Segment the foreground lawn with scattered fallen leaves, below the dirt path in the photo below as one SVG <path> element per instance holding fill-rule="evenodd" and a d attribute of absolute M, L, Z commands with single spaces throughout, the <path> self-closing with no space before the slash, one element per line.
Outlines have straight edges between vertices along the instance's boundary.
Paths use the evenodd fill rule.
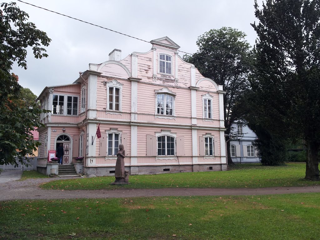
<path fill-rule="evenodd" d="M 319 193 L 7 201 L 0 239 L 315 240 L 319 206 Z"/>

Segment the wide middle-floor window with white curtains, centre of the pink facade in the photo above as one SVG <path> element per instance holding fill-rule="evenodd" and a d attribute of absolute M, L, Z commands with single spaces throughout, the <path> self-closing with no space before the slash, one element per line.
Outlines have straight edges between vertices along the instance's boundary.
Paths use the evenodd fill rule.
<path fill-rule="evenodd" d="M 158 116 L 171 116 L 169 119 L 174 119 L 175 106 L 174 100 L 176 93 L 170 91 L 167 87 L 160 90 L 155 90 L 156 93 L 156 112 Z"/>

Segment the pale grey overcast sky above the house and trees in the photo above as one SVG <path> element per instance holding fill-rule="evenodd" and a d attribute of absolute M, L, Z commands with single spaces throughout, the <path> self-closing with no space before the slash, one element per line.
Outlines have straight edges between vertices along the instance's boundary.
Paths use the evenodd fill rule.
<path fill-rule="evenodd" d="M 251 27 L 254 0 L 24 0 L 25 2 L 110 28 L 146 41 L 168 36 L 180 50 L 197 51 L 197 37 L 210 29 L 237 28 L 247 34 L 253 46 L 256 34 Z M 262 0 L 258 0 L 261 5 Z M 12 72 L 20 85 L 39 95 L 45 86 L 70 84 L 89 63 L 102 63 L 115 48 L 122 58 L 132 52 L 147 52 L 151 44 L 86 23 L 17 2 L 29 14 L 29 21 L 52 39 L 48 58 L 35 59 L 28 49 L 24 70 Z M 184 53 L 180 53 L 184 55 Z"/>

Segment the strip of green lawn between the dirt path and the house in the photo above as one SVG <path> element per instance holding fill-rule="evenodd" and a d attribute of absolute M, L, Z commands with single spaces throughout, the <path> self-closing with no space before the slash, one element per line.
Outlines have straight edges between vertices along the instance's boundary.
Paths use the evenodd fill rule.
<path fill-rule="evenodd" d="M 262 166 L 236 164 L 224 172 L 182 172 L 157 175 L 129 176 L 130 185 L 124 188 L 264 188 L 319 185 L 320 182 L 303 180 L 306 164 Z M 40 185 L 44 189 L 114 189 L 114 177 L 55 180 Z"/>

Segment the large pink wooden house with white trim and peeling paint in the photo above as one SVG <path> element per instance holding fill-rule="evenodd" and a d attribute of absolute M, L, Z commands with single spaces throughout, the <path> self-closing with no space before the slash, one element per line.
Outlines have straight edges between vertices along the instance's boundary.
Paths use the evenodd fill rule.
<path fill-rule="evenodd" d="M 63 164 L 83 156 L 76 169 L 85 174 L 112 175 L 119 144 L 130 174 L 227 169 L 222 86 L 182 60 L 170 38 L 150 43 L 124 59 L 115 49 L 74 83 L 44 88 L 38 99 L 51 113 L 38 129 L 40 171 L 60 143 Z"/>

